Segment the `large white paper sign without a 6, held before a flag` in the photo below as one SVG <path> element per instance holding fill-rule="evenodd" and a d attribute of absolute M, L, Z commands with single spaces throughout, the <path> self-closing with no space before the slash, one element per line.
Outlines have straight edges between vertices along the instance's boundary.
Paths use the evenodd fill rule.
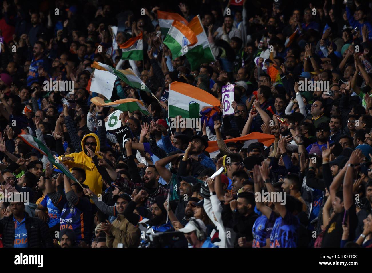
<path fill-rule="evenodd" d="M 112 89 L 114 88 L 116 75 L 111 74 L 105 70 L 94 70 L 94 78 L 90 85 L 90 91 L 102 94 L 110 99 L 112 96 Z"/>

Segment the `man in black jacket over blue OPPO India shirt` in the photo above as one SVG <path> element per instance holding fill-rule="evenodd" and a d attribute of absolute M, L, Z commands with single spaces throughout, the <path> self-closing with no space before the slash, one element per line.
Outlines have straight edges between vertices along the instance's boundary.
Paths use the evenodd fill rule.
<path fill-rule="evenodd" d="M 10 210 L 12 214 L 0 220 L 4 247 L 53 247 L 48 224 L 28 216 L 24 203 L 11 202 Z"/>

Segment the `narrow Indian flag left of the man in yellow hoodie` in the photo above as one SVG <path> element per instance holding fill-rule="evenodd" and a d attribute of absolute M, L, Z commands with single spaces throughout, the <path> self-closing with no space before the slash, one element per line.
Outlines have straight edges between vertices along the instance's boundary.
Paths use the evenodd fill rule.
<path fill-rule="evenodd" d="M 49 151 L 49 149 L 37 138 L 33 137 L 32 135 L 27 134 L 20 134 L 18 137 L 22 138 L 22 140 L 30 145 L 32 148 L 35 148 L 41 154 L 48 157 L 51 164 L 57 167 L 61 172 L 63 172 L 68 178 L 77 182 L 76 178 L 71 174 L 71 172 L 67 169 L 67 167 Z"/>

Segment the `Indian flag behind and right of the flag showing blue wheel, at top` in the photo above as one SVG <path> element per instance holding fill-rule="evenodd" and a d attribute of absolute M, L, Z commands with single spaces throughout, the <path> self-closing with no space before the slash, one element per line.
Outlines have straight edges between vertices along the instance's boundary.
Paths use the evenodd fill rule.
<path fill-rule="evenodd" d="M 191 65 L 191 70 L 196 70 L 199 69 L 202 63 L 209 63 L 216 59 L 212 53 L 211 45 L 209 45 L 208 37 L 203 29 L 199 15 L 195 16 L 187 26 L 195 33 L 198 39 L 195 45 L 189 46 L 185 54 Z"/>

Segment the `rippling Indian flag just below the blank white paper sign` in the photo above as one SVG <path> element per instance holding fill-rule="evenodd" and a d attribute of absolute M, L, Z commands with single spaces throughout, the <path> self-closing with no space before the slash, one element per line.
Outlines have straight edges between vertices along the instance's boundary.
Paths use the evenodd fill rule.
<path fill-rule="evenodd" d="M 140 110 L 143 114 L 149 115 L 149 112 L 143 103 L 143 101 L 139 99 L 118 99 L 117 101 L 104 101 L 102 98 L 94 97 L 90 99 L 92 103 L 99 106 L 111 106 L 115 109 L 121 111 L 129 111 L 134 112 L 136 110 Z"/>

